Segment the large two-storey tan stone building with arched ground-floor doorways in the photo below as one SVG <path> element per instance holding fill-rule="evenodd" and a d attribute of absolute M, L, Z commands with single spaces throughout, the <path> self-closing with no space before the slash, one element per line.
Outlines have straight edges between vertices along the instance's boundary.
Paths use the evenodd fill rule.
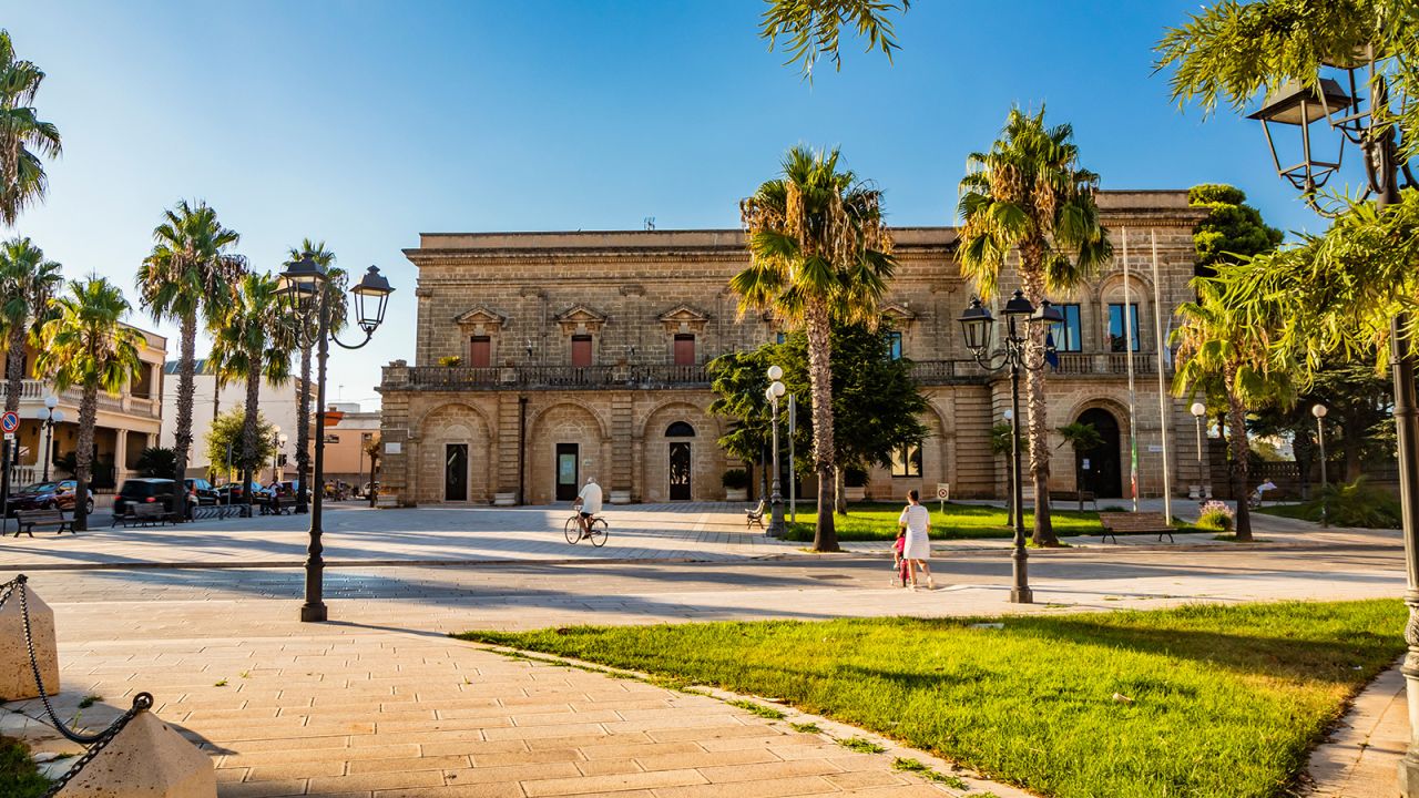
<path fill-rule="evenodd" d="M 1066 322 L 1054 329 L 1059 368 L 1047 383 L 1050 427 L 1093 422 L 1104 444 L 1078 461 L 1056 449 L 1051 487 L 1070 490 L 1081 474 L 1100 497 L 1128 490 L 1127 230 L 1139 483 L 1156 496 L 1155 318 L 1166 339 L 1176 305 L 1192 295 L 1192 229 L 1202 213 L 1181 190 L 1104 192 L 1098 202 L 1115 261 L 1076 295 L 1051 297 Z M 931 436 L 891 469 L 876 469 L 867 494 L 932 493 L 948 483 L 956 497 L 1005 496 L 990 427 L 1009 408 L 1009 379 L 978 366 L 961 342 L 956 318 L 973 287 L 955 260 L 956 230 L 893 236 L 898 271 L 884 311 L 900 331 L 901 356 L 917 364 Z M 380 386 L 382 481 L 403 504 L 566 501 L 586 477 L 614 503 L 725 497 L 721 477 L 739 463 L 715 443 L 728 422 L 707 413 L 705 364 L 782 332 L 771 315 L 738 312 L 728 281 L 748 264 L 742 233 L 433 233 L 404 254 L 419 268 L 417 349 L 413 364 L 386 366 Z M 1016 284 L 1002 275 L 1002 294 Z M 1003 298 L 993 302 L 999 311 Z M 1164 403 L 1174 487 L 1185 493 L 1205 481 L 1193 419 L 1185 402 Z"/>

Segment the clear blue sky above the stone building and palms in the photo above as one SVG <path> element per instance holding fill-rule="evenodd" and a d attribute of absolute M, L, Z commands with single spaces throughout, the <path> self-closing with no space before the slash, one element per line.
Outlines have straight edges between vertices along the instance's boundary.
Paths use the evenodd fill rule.
<path fill-rule="evenodd" d="M 1012 102 L 1071 122 L 1107 189 L 1227 182 L 1271 223 L 1318 227 L 1256 124 L 1182 114 L 1152 74 L 1196 7 L 921 0 L 895 64 L 850 43 L 807 85 L 758 38 L 759 0 L 13 4 L 0 26 L 48 72 L 38 105 L 65 148 L 16 230 L 131 297 L 180 197 L 211 203 L 255 268 L 302 236 L 377 264 L 389 322 L 335 352 L 329 390 L 373 402 L 379 366 L 413 359 L 400 250 L 420 231 L 734 227 L 797 142 L 841 145 L 894 224 L 949 224 L 966 153 Z"/>

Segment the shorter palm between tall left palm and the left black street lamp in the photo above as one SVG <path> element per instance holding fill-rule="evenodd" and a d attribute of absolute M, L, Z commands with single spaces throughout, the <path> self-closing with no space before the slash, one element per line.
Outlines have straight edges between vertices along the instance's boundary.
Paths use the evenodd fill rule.
<path fill-rule="evenodd" d="M 264 447 L 258 440 L 261 379 L 284 385 L 291 378 L 294 334 L 278 301 L 278 283 L 270 274 L 247 274 L 237 284 L 211 342 L 217 382 L 247 383 L 245 420 L 241 425 L 241 484 L 251 504 L 251 479 Z"/>

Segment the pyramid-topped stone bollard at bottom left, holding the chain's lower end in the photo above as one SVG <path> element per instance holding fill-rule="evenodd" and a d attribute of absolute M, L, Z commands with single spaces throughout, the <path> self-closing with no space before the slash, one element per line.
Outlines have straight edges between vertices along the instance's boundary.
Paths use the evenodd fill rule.
<path fill-rule="evenodd" d="M 55 798 L 216 798 L 211 757 L 150 711 L 128 721 Z"/>

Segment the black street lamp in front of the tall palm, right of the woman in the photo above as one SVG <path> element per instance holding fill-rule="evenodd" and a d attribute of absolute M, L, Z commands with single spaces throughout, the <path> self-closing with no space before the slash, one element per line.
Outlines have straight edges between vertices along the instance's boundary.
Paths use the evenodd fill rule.
<path fill-rule="evenodd" d="M 1022 319 L 1025 329 L 1020 329 Z M 1015 524 L 1015 554 L 1012 554 L 1015 584 L 1010 586 L 1010 601 L 1013 603 L 1032 603 L 1034 594 L 1030 591 L 1029 569 L 1026 568 L 1029 555 L 1025 552 L 1025 487 L 1020 484 L 1020 369 L 1039 371 L 1044 368 L 1043 358 L 1036 364 L 1029 362 L 1026 344 L 1040 329 L 1039 325 L 1047 328 L 1050 324 L 1059 324 L 1064 321 L 1064 314 L 1049 302 L 1040 302 L 1036 310 L 1025 298 L 1023 291 L 1016 291 L 1005 302 L 1005 338 L 1000 341 L 1002 349 L 993 354 L 988 354 L 988 348 L 995 317 L 981 304 L 979 297 L 971 300 L 971 307 L 961 314 L 959 321 L 966 349 L 971 351 L 971 356 L 981 368 L 1010 371 L 1010 515 Z M 996 362 L 995 358 L 1000 358 L 1000 361 Z"/>

